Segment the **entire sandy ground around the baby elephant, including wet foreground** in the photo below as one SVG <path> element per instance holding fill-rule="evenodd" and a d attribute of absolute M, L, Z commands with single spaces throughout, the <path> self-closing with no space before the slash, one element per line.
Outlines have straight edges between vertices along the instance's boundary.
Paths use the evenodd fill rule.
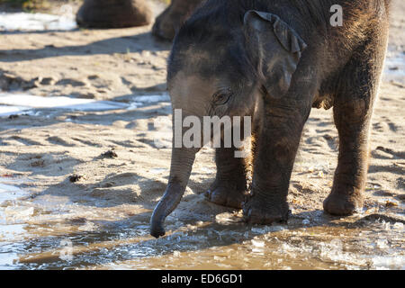
<path fill-rule="evenodd" d="M 215 165 L 203 148 L 159 239 L 148 235 L 148 221 L 170 165 L 170 44 L 154 40 L 150 27 L 1 32 L 2 93 L 45 99 L 0 116 L 0 268 L 405 269 L 405 21 L 404 4 L 395 2 L 364 211 L 347 218 L 322 211 L 338 133 L 331 110 L 314 109 L 287 224 L 248 227 L 240 211 L 206 202 Z M 43 108 L 55 96 L 121 108 Z"/>

